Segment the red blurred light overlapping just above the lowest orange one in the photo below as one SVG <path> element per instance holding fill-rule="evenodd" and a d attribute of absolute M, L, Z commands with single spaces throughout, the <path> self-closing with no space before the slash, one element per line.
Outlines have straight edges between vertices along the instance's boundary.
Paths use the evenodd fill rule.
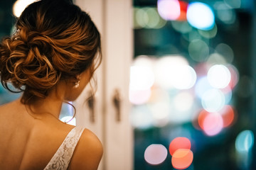
<path fill-rule="evenodd" d="M 169 152 L 173 156 L 177 149 L 191 149 L 191 142 L 186 137 L 176 137 L 169 145 Z"/>

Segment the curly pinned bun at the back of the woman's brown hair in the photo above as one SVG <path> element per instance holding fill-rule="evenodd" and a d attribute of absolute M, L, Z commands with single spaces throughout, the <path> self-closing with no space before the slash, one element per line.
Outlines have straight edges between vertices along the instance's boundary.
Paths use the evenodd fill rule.
<path fill-rule="evenodd" d="M 38 91 L 48 91 L 60 79 L 48 59 L 52 53 L 48 38 L 38 33 L 27 35 L 21 30 L 13 38 L 6 38 L 1 44 L 1 81 L 10 81 L 17 89 L 26 86 L 43 97 Z"/>

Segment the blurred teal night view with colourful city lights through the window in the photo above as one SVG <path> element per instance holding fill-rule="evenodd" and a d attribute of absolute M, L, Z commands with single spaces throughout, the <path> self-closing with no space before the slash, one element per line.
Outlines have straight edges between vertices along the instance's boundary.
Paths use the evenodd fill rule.
<path fill-rule="evenodd" d="M 0 1 L 0 38 L 15 2 Z M 134 170 L 256 169 L 255 3 L 133 0 Z M 17 96 L 0 86 L 0 104 Z"/>

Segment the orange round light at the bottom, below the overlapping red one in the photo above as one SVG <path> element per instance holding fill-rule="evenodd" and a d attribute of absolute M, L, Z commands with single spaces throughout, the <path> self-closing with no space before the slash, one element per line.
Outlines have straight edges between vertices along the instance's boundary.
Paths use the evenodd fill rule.
<path fill-rule="evenodd" d="M 177 149 L 171 158 L 171 164 L 175 169 L 186 169 L 193 162 L 193 152 L 191 149 Z"/>

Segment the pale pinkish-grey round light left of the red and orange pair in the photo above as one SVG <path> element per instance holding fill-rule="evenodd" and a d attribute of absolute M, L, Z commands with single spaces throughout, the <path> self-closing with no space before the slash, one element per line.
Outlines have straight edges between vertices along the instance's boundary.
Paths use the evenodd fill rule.
<path fill-rule="evenodd" d="M 152 144 L 146 148 L 144 152 L 144 159 L 147 163 L 158 165 L 164 162 L 167 157 L 167 149 L 164 145 Z"/>

